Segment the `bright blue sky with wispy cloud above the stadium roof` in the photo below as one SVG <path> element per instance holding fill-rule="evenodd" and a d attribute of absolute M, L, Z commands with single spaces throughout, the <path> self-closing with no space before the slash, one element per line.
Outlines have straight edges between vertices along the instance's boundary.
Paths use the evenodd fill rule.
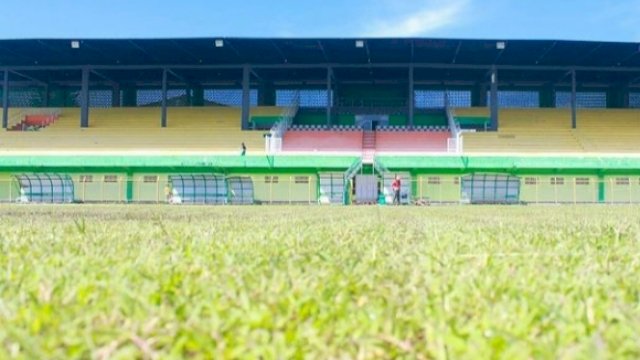
<path fill-rule="evenodd" d="M 640 0 L 2 0 L 0 38 L 446 37 L 640 42 Z"/>

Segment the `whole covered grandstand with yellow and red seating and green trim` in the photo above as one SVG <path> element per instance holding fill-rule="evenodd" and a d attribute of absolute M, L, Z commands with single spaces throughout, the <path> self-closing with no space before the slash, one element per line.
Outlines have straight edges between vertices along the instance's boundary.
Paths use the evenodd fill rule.
<path fill-rule="evenodd" d="M 2 40 L 0 74 L 5 202 L 640 202 L 638 43 Z"/>

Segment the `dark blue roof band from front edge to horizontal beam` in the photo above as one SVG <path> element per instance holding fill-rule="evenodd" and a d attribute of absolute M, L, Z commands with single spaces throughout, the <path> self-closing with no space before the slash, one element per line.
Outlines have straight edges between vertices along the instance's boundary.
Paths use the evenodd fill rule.
<path fill-rule="evenodd" d="M 216 47 L 215 40 L 223 41 Z M 450 64 L 640 67 L 640 44 L 455 39 L 0 40 L 0 66 Z M 72 48 L 71 42 L 80 47 Z M 505 48 L 497 43 L 504 42 Z"/>

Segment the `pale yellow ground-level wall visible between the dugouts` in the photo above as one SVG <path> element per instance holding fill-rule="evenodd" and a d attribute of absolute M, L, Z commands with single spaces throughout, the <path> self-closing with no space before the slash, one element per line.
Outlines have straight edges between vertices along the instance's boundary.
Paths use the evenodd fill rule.
<path fill-rule="evenodd" d="M 315 205 L 320 203 L 323 191 L 317 175 L 243 175 L 249 177 L 250 186 L 243 196 L 251 196 L 250 203 L 264 205 Z M 190 203 L 192 194 L 211 194 L 220 189 L 195 189 L 181 194 L 174 192 L 167 175 L 134 176 L 72 176 L 73 202 L 75 203 L 150 203 L 171 204 L 178 196 L 182 203 Z M 356 187 L 345 183 L 344 191 L 350 191 L 348 198 L 355 203 Z M 390 196 L 382 186 L 379 195 Z M 420 175 L 403 182 L 408 189 L 409 203 L 415 205 L 464 204 L 462 181 L 459 177 Z M 386 186 L 386 185 L 385 185 Z M 21 188 L 13 179 L 0 180 L 0 202 L 38 203 L 42 199 L 55 196 L 31 196 L 39 194 L 39 189 Z M 226 190 L 228 201 L 236 194 L 229 186 Z M 340 191 L 340 190 L 331 190 Z M 249 194 L 249 195 L 247 195 Z M 369 194 L 370 196 L 370 194 Z M 39 200 L 40 199 L 40 200 Z M 521 177 L 518 202 L 521 204 L 640 204 L 640 177 L 612 177 L 604 180 L 580 176 Z M 191 202 L 193 203 L 193 202 Z M 196 204 L 202 203 L 195 201 Z M 390 203 L 387 199 L 387 203 Z"/>

